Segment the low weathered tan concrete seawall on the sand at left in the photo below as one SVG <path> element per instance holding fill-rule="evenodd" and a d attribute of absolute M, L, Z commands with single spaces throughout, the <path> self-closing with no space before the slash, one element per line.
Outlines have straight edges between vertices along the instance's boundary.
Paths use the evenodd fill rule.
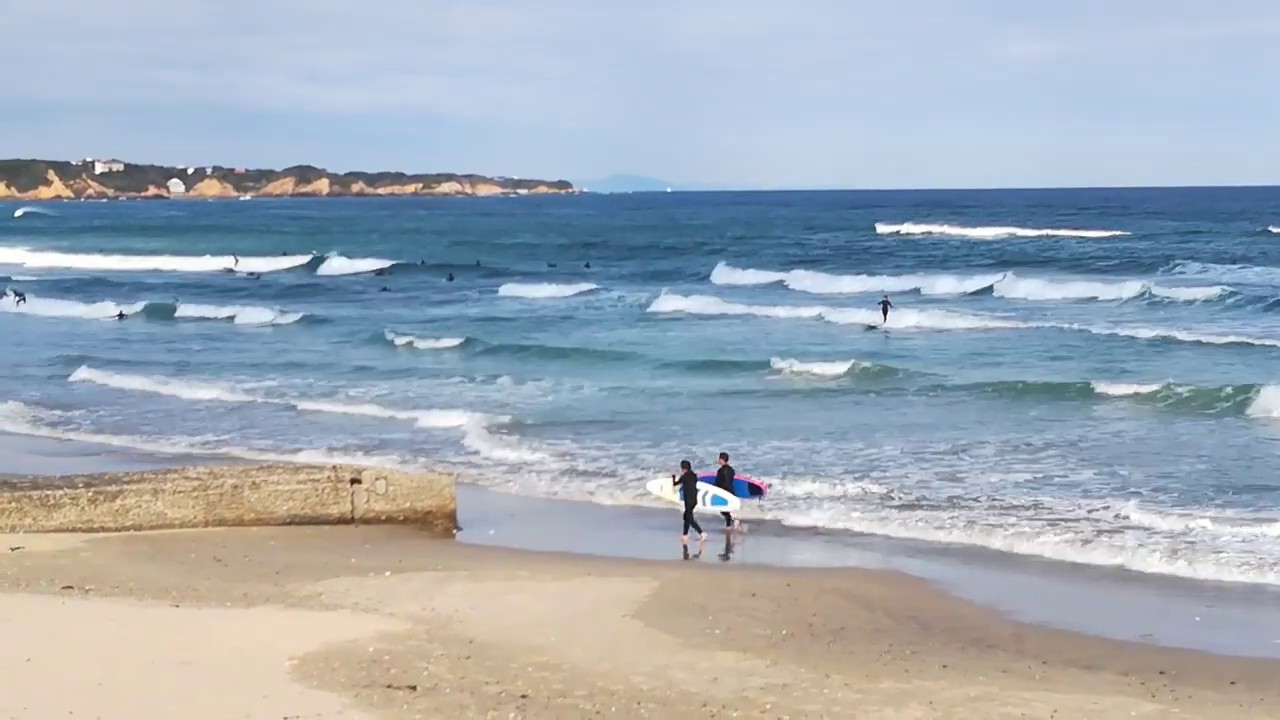
<path fill-rule="evenodd" d="M 0 480 L 0 533 L 349 524 L 452 536 L 453 477 L 279 464 Z"/>

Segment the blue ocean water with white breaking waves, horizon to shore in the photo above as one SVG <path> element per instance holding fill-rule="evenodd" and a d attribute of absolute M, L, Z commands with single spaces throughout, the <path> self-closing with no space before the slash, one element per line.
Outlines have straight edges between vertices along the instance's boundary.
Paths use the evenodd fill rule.
<path fill-rule="evenodd" d="M 1280 584 L 1276 188 L 19 209 L 0 430 Z"/>

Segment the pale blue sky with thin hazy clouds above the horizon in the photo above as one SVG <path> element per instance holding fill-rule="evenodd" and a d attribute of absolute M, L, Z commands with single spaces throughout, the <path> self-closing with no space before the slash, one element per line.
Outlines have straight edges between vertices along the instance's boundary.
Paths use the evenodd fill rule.
<path fill-rule="evenodd" d="M 1280 184 L 1276 0 L 0 0 L 0 156 Z"/>

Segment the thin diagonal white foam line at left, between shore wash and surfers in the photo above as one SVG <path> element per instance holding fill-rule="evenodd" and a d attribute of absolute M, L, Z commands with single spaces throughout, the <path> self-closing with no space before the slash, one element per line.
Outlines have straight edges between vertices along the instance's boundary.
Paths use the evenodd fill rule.
<path fill-rule="evenodd" d="M 366 418 L 387 418 L 394 420 L 408 420 L 424 429 L 462 428 L 468 424 L 485 421 L 506 421 L 507 418 L 489 418 L 468 410 L 398 410 L 383 407 L 370 402 L 337 402 L 324 400 L 296 400 L 253 396 L 237 388 L 207 383 L 192 379 L 174 379 L 163 375 L 133 375 L 128 373 L 113 373 L 99 370 L 88 365 L 77 369 L 69 378 L 70 382 L 88 382 L 116 389 L 134 392 L 150 392 L 154 395 L 166 395 L 182 400 L 205 402 L 260 402 L 266 405 L 284 405 L 307 413 L 333 413 L 340 415 L 364 415 Z"/>

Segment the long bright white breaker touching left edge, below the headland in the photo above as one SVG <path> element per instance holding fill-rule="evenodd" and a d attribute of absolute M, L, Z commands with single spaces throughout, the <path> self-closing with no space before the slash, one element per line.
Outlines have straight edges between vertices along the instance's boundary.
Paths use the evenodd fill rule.
<path fill-rule="evenodd" d="M 238 259 L 232 255 L 100 255 L 0 247 L 0 265 L 122 272 L 216 273 L 234 269 L 242 273 L 273 273 L 306 265 L 311 258 L 312 255 Z"/>

